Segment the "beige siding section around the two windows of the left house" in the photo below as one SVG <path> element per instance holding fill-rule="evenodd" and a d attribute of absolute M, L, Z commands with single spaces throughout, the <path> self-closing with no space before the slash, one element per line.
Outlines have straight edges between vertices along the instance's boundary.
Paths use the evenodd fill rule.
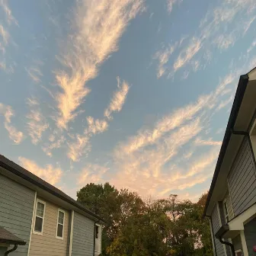
<path fill-rule="evenodd" d="M 34 234 L 34 232 L 32 232 L 30 256 L 66 256 L 68 253 L 67 251 L 69 251 L 69 212 L 64 210 L 65 219 L 63 239 L 56 238 L 58 210 L 60 207 L 47 202 L 46 200 L 43 201 L 46 202 L 43 235 Z"/>

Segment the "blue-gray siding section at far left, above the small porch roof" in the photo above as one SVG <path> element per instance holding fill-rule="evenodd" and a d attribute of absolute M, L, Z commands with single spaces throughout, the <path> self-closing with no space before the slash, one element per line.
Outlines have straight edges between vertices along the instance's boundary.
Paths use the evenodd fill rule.
<path fill-rule="evenodd" d="M 27 242 L 11 253 L 27 255 L 35 192 L 0 174 L 0 226 Z"/>

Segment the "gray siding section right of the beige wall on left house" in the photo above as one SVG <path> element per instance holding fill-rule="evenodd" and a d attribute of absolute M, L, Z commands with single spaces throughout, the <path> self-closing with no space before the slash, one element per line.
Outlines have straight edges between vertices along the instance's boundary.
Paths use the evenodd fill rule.
<path fill-rule="evenodd" d="M 74 213 L 72 256 L 91 256 L 94 254 L 94 222 Z"/>

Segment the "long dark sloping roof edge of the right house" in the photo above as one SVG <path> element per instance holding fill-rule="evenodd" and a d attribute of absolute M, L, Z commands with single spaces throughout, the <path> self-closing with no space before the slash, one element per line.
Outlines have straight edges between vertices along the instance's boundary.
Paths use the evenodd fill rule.
<path fill-rule="evenodd" d="M 224 135 L 224 139 L 222 141 L 221 149 L 219 151 L 219 158 L 217 160 L 216 168 L 215 168 L 215 171 L 214 171 L 214 174 L 213 174 L 213 181 L 210 185 L 209 194 L 208 194 L 208 197 L 207 197 L 207 200 L 206 200 L 206 206 L 205 206 L 204 211 L 203 211 L 203 217 L 206 216 L 206 210 L 209 206 L 210 199 L 213 195 L 213 189 L 216 185 L 216 181 L 217 181 L 217 178 L 218 178 L 218 175 L 219 175 L 219 170 L 222 166 L 222 162 L 223 162 L 224 156 L 226 154 L 226 149 L 229 145 L 229 140 L 230 140 L 230 137 L 232 135 L 232 130 L 235 126 L 235 121 L 236 121 L 236 118 L 238 116 L 238 111 L 239 111 L 239 109 L 241 107 L 241 104 L 242 104 L 242 99 L 244 98 L 245 90 L 246 90 L 246 87 L 248 85 L 248 80 L 249 80 L 248 74 L 240 76 L 240 79 L 239 79 L 239 82 L 238 82 L 238 88 L 237 88 L 236 93 L 235 93 L 235 99 L 234 99 L 233 105 L 232 105 L 232 110 L 231 110 L 231 113 L 230 113 L 230 116 L 229 116 L 229 122 L 226 126 L 226 132 L 225 132 L 225 135 Z"/>

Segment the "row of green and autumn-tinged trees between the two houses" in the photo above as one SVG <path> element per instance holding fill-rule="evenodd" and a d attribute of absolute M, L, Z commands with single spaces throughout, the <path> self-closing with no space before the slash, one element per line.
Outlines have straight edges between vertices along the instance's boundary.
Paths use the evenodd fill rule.
<path fill-rule="evenodd" d="M 136 192 L 91 183 L 78 190 L 77 197 L 106 222 L 102 255 L 213 255 L 209 222 L 202 219 L 207 194 L 197 203 L 174 194 L 142 200 Z"/>

